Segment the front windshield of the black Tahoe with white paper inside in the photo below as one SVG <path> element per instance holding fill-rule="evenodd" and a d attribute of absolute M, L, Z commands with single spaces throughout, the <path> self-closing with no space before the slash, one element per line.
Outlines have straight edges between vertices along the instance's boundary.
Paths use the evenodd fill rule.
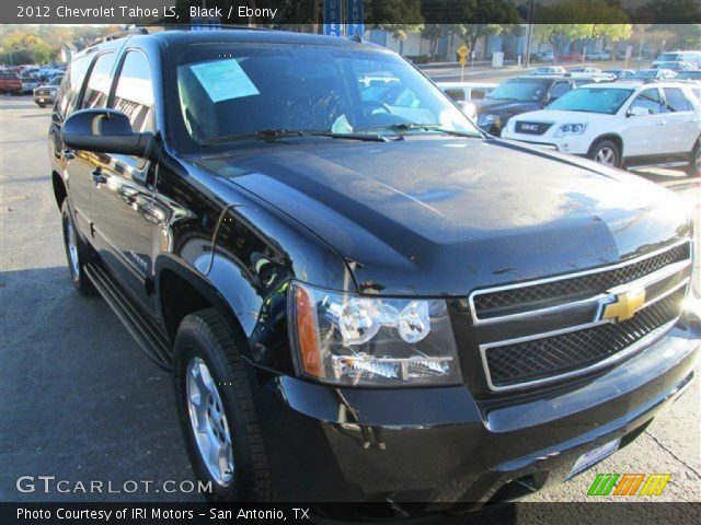
<path fill-rule="evenodd" d="M 449 98 L 397 55 L 332 46 L 176 48 L 180 114 L 199 144 L 260 132 L 479 135 Z M 430 128 L 430 129 L 429 129 Z"/>

